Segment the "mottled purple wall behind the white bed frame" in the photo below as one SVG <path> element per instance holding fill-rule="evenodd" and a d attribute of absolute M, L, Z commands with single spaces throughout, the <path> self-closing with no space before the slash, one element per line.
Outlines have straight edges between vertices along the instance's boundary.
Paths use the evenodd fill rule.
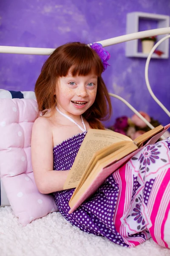
<path fill-rule="evenodd" d="M 0 45 L 56 48 L 69 41 L 91 43 L 126 33 L 128 12 L 170 15 L 168 0 L 5 0 L 0 1 Z M 107 47 L 111 53 L 103 79 L 109 92 L 125 98 L 164 125 L 170 118 L 154 102 L 144 81 L 145 58 L 126 58 L 125 43 Z M 0 88 L 34 90 L 47 56 L 0 54 Z M 153 92 L 170 109 L 170 60 L 152 59 Z M 112 99 L 113 117 L 133 114 Z M 108 123 L 107 123 L 108 124 Z"/>

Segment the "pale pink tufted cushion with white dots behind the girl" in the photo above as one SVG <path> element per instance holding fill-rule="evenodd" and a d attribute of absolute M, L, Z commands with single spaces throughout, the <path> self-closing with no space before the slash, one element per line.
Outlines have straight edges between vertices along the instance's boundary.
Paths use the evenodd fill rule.
<path fill-rule="evenodd" d="M 52 195 L 41 194 L 31 166 L 31 130 L 37 118 L 34 99 L 0 99 L 0 175 L 8 200 L 26 226 L 57 211 Z"/>

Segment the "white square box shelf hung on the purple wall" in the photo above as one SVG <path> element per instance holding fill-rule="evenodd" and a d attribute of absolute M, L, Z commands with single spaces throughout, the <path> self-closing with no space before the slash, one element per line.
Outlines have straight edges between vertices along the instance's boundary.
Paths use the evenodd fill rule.
<path fill-rule="evenodd" d="M 130 12 L 127 14 L 126 34 L 139 32 L 139 20 L 155 20 L 157 22 L 157 28 L 164 28 L 170 26 L 170 16 L 159 15 L 145 12 Z M 163 38 L 165 35 L 158 35 L 157 41 Z M 153 53 L 152 58 L 169 58 L 169 38 L 163 41 L 158 50 L 164 52 L 161 56 Z M 138 51 L 138 39 L 126 42 L 126 57 L 141 57 L 147 58 L 148 54 Z"/>

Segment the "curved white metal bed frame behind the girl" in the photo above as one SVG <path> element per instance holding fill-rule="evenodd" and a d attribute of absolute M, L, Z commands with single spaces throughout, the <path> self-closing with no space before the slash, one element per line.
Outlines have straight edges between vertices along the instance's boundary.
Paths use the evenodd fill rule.
<path fill-rule="evenodd" d="M 107 47 L 113 44 L 119 44 L 125 41 L 130 41 L 134 39 L 140 39 L 140 38 L 145 38 L 149 36 L 156 36 L 156 35 L 165 35 L 165 34 L 170 34 L 170 27 L 166 28 L 160 28 L 160 29 L 151 29 L 151 30 L 146 30 L 142 32 L 136 32 L 128 35 L 122 35 L 118 36 L 115 38 L 110 38 L 102 41 L 98 41 L 97 43 L 102 44 L 103 47 Z M 170 38 L 170 35 L 166 35 L 165 37 L 161 38 L 154 47 L 151 49 L 147 61 L 145 64 L 145 81 L 147 85 L 147 89 L 150 93 L 150 95 L 153 97 L 153 99 L 157 102 L 157 104 L 164 110 L 165 113 L 170 117 L 170 111 L 167 110 L 167 108 L 164 107 L 164 105 L 159 101 L 159 99 L 156 98 L 154 95 L 153 91 L 151 90 L 149 79 L 148 79 L 148 67 L 150 63 L 150 58 L 155 51 L 155 49 L 167 38 Z M 50 55 L 55 49 L 51 48 L 36 48 L 36 47 L 12 47 L 12 46 L 0 46 L 0 53 L 15 53 L 15 54 L 31 54 L 31 55 Z M 148 125 L 151 129 L 153 129 L 153 125 L 150 124 L 138 111 L 136 111 L 135 108 L 133 108 L 132 105 L 130 105 L 125 99 L 123 99 L 120 96 L 117 96 L 116 94 L 109 93 L 110 96 L 121 100 L 124 102 L 128 108 L 130 108 L 134 113 L 136 113 L 137 116 L 139 116 L 140 119 L 142 119 L 146 125 Z M 161 139 L 164 139 L 163 136 L 161 136 Z"/>

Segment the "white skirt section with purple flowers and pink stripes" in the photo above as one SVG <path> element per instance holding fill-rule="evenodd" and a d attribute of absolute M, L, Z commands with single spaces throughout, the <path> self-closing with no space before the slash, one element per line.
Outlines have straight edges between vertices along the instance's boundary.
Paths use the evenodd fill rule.
<path fill-rule="evenodd" d="M 170 248 L 170 138 L 144 147 L 113 177 L 120 188 L 113 222 L 125 243 L 152 237 Z"/>

